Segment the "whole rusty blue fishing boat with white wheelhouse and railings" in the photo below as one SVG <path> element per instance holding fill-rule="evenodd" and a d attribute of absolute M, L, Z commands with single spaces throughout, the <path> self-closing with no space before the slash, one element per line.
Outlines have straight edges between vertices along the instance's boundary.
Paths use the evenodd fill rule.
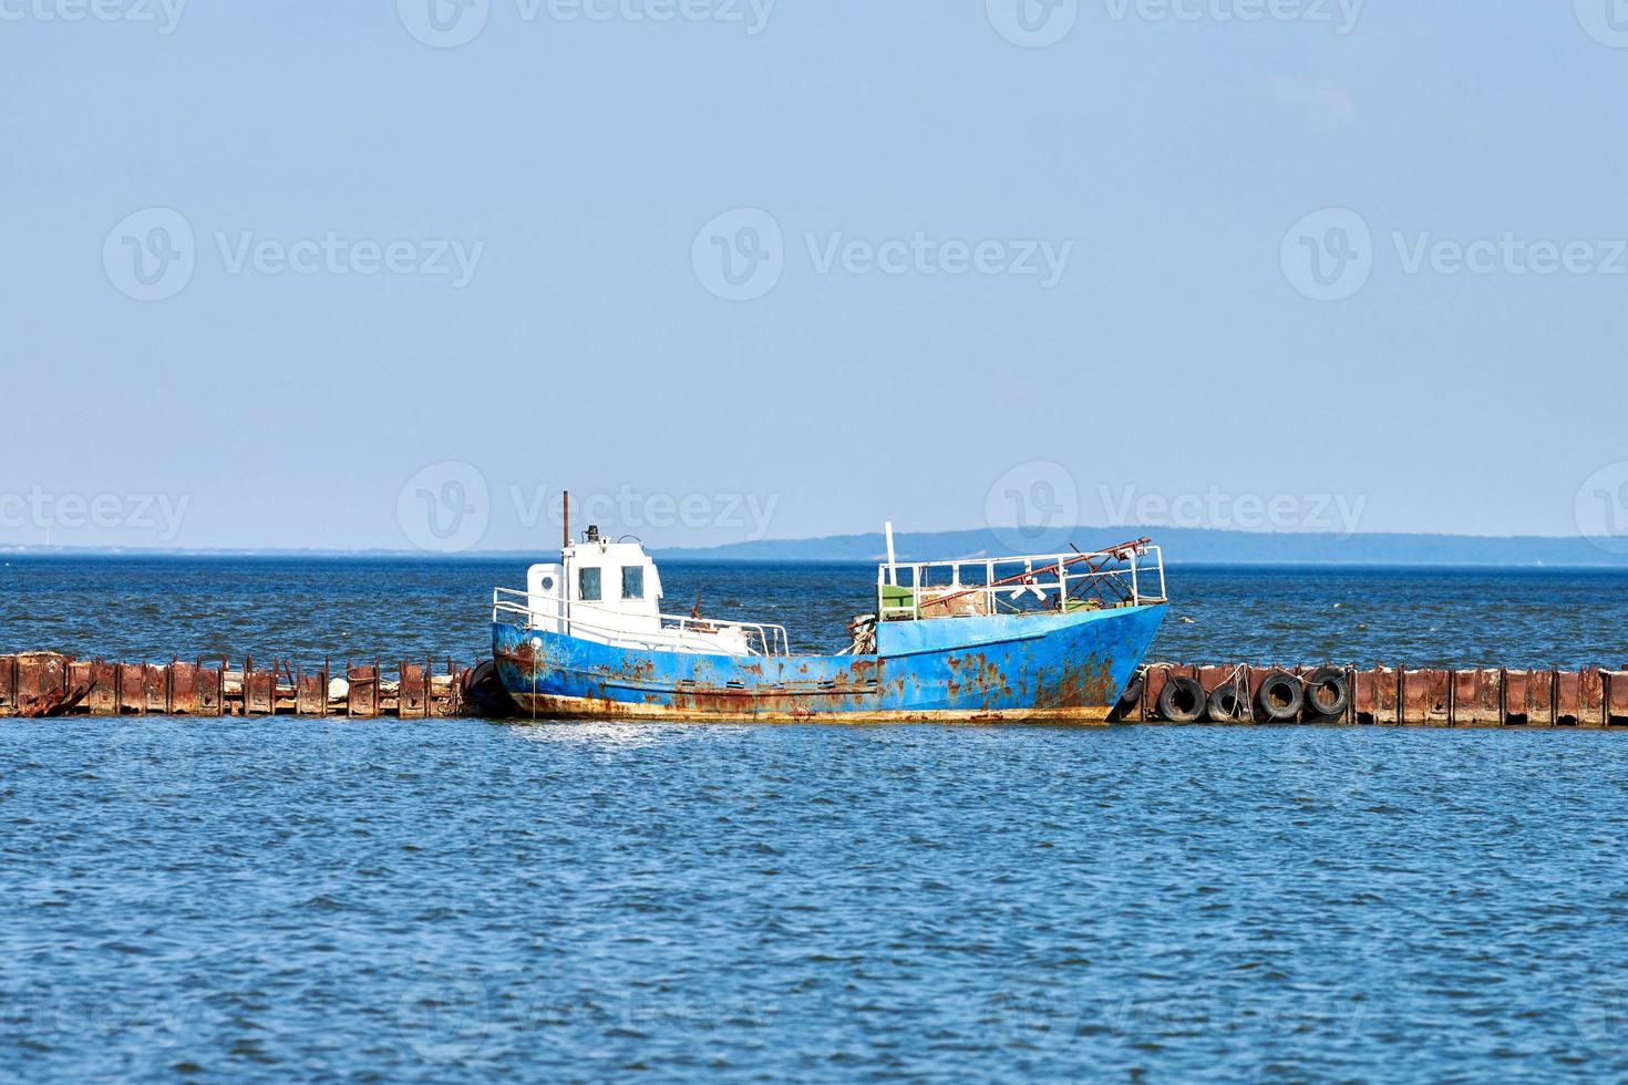
<path fill-rule="evenodd" d="M 492 654 L 524 716 L 751 722 L 1104 722 L 1167 610 L 1148 538 L 1094 553 L 902 563 L 837 654 L 785 626 L 661 612 L 641 542 L 589 527 L 524 590 L 495 589 Z"/>

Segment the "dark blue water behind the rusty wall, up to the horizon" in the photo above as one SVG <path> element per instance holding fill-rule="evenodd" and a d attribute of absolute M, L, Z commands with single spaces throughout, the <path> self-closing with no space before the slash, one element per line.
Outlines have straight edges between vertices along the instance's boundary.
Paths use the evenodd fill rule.
<path fill-rule="evenodd" d="M 785 625 L 799 652 L 847 646 L 874 564 L 663 561 L 666 610 Z M 1174 566 L 1154 659 L 1410 667 L 1628 664 L 1628 571 Z M 0 652 L 125 662 L 228 656 L 399 660 L 490 654 L 514 558 L 0 555 Z"/>

